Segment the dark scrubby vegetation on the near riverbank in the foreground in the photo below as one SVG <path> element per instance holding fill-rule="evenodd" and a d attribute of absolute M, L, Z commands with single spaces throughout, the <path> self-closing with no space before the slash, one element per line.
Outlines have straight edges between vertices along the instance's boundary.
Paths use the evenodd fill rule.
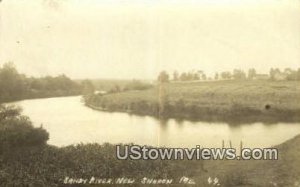
<path fill-rule="evenodd" d="M 114 145 L 79 144 L 58 148 L 47 145 L 48 137 L 43 128 L 34 128 L 27 117 L 20 115 L 20 109 L 1 106 L 1 186 L 62 186 L 65 177 L 93 176 L 177 181 L 185 176 L 195 180 L 197 185 L 193 186 L 201 187 L 211 186 L 209 177 L 217 177 L 219 186 L 224 187 L 297 187 L 300 184 L 300 136 L 277 146 L 280 155 L 275 161 L 117 160 Z"/>

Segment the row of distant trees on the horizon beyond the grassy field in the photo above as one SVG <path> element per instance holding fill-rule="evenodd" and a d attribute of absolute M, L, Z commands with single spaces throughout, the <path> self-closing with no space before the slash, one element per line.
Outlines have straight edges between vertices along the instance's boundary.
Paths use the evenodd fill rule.
<path fill-rule="evenodd" d="M 234 69 L 232 72 L 224 71 L 215 73 L 214 77 L 208 77 L 204 71 L 189 71 L 179 73 L 174 71 L 170 75 L 166 71 L 160 72 L 158 80 L 160 82 L 167 81 L 198 81 L 198 80 L 300 80 L 300 68 L 293 70 L 286 68 L 280 70 L 278 68 L 271 68 L 269 74 L 259 74 L 254 68 L 249 69 L 246 73 L 241 69 Z"/>

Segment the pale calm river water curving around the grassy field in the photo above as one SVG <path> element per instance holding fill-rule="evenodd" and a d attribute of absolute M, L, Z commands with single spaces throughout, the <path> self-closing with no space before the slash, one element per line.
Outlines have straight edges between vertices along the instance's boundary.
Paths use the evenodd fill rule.
<path fill-rule="evenodd" d="M 226 123 L 161 122 L 149 116 L 109 113 L 87 108 L 81 97 L 33 99 L 15 102 L 34 126 L 50 133 L 49 144 L 136 143 L 168 147 L 220 147 L 222 140 L 234 147 L 269 147 L 300 134 L 300 124 L 263 123 L 230 126 Z"/>

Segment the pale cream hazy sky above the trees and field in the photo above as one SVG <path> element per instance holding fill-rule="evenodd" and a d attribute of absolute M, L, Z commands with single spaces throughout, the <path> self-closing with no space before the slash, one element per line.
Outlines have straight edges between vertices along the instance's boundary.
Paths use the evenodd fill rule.
<path fill-rule="evenodd" d="M 300 67 L 300 0 L 2 0 L 0 65 L 28 76 Z"/>

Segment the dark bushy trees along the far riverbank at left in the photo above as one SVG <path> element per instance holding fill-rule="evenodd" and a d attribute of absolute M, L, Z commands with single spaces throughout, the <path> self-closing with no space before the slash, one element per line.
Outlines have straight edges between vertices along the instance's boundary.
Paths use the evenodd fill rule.
<path fill-rule="evenodd" d="M 13 63 L 0 67 L 0 102 L 79 95 L 87 90 L 93 91 L 93 85 L 89 81 L 77 83 L 65 75 L 27 77 L 20 74 Z"/>

